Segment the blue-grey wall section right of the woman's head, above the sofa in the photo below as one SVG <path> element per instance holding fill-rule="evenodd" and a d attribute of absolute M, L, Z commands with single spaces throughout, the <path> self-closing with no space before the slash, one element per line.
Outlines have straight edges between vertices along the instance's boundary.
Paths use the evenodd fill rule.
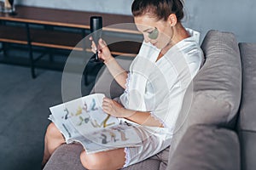
<path fill-rule="evenodd" d="M 256 42 L 255 0 L 185 0 L 184 25 L 201 31 L 231 31 L 239 42 Z"/>

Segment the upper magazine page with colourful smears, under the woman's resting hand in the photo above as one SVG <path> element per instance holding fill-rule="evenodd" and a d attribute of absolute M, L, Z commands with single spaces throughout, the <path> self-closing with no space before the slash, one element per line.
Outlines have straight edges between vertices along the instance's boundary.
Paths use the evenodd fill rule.
<path fill-rule="evenodd" d="M 90 94 L 50 107 L 50 119 L 66 139 L 95 132 L 119 124 L 119 119 L 102 111 L 104 94 Z"/>

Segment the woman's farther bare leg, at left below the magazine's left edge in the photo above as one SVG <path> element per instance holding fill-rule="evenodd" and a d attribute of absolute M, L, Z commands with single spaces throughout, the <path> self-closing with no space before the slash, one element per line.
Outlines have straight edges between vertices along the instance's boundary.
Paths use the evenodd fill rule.
<path fill-rule="evenodd" d="M 51 122 L 47 127 L 47 131 L 44 137 L 44 158 L 42 166 L 49 160 L 49 156 L 55 151 L 57 147 L 65 143 L 61 132 L 55 127 L 55 124 Z"/>

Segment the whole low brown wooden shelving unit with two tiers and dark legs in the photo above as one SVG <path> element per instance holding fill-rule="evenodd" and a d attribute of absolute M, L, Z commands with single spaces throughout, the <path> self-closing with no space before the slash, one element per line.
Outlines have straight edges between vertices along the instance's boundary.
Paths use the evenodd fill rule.
<path fill-rule="evenodd" d="M 129 15 L 27 6 L 17 6 L 16 12 L 16 15 L 0 13 L 0 22 L 3 23 L 0 25 L 0 42 L 27 46 L 32 77 L 35 77 L 35 62 L 41 59 L 33 57 L 33 47 L 91 51 L 89 40 L 81 42 L 90 32 L 90 16 L 102 16 L 102 38 L 113 55 L 135 57 L 142 43 L 134 38 L 139 39 L 141 35 Z"/>

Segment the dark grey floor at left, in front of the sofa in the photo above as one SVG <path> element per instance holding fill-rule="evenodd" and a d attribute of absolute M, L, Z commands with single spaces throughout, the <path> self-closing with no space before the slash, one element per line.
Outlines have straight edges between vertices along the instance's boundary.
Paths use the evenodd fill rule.
<path fill-rule="evenodd" d="M 61 71 L 0 64 L 0 169 L 40 169 L 49 107 L 62 103 Z M 84 86 L 88 94 L 92 84 Z"/>

